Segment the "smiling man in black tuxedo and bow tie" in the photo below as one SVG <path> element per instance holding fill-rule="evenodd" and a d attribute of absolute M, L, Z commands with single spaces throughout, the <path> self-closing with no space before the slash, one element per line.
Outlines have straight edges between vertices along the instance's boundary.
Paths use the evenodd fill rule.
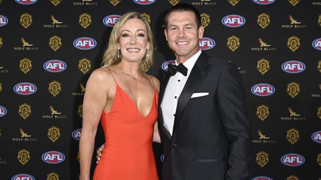
<path fill-rule="evenodd" d="M 159 93 L 162 180 L 248 180 L 251 135 L 241 75 L 235 64 L 201 52 L 203 32 L 189 4 L 165 16 L 178 66 L 168 65 Z"/>

